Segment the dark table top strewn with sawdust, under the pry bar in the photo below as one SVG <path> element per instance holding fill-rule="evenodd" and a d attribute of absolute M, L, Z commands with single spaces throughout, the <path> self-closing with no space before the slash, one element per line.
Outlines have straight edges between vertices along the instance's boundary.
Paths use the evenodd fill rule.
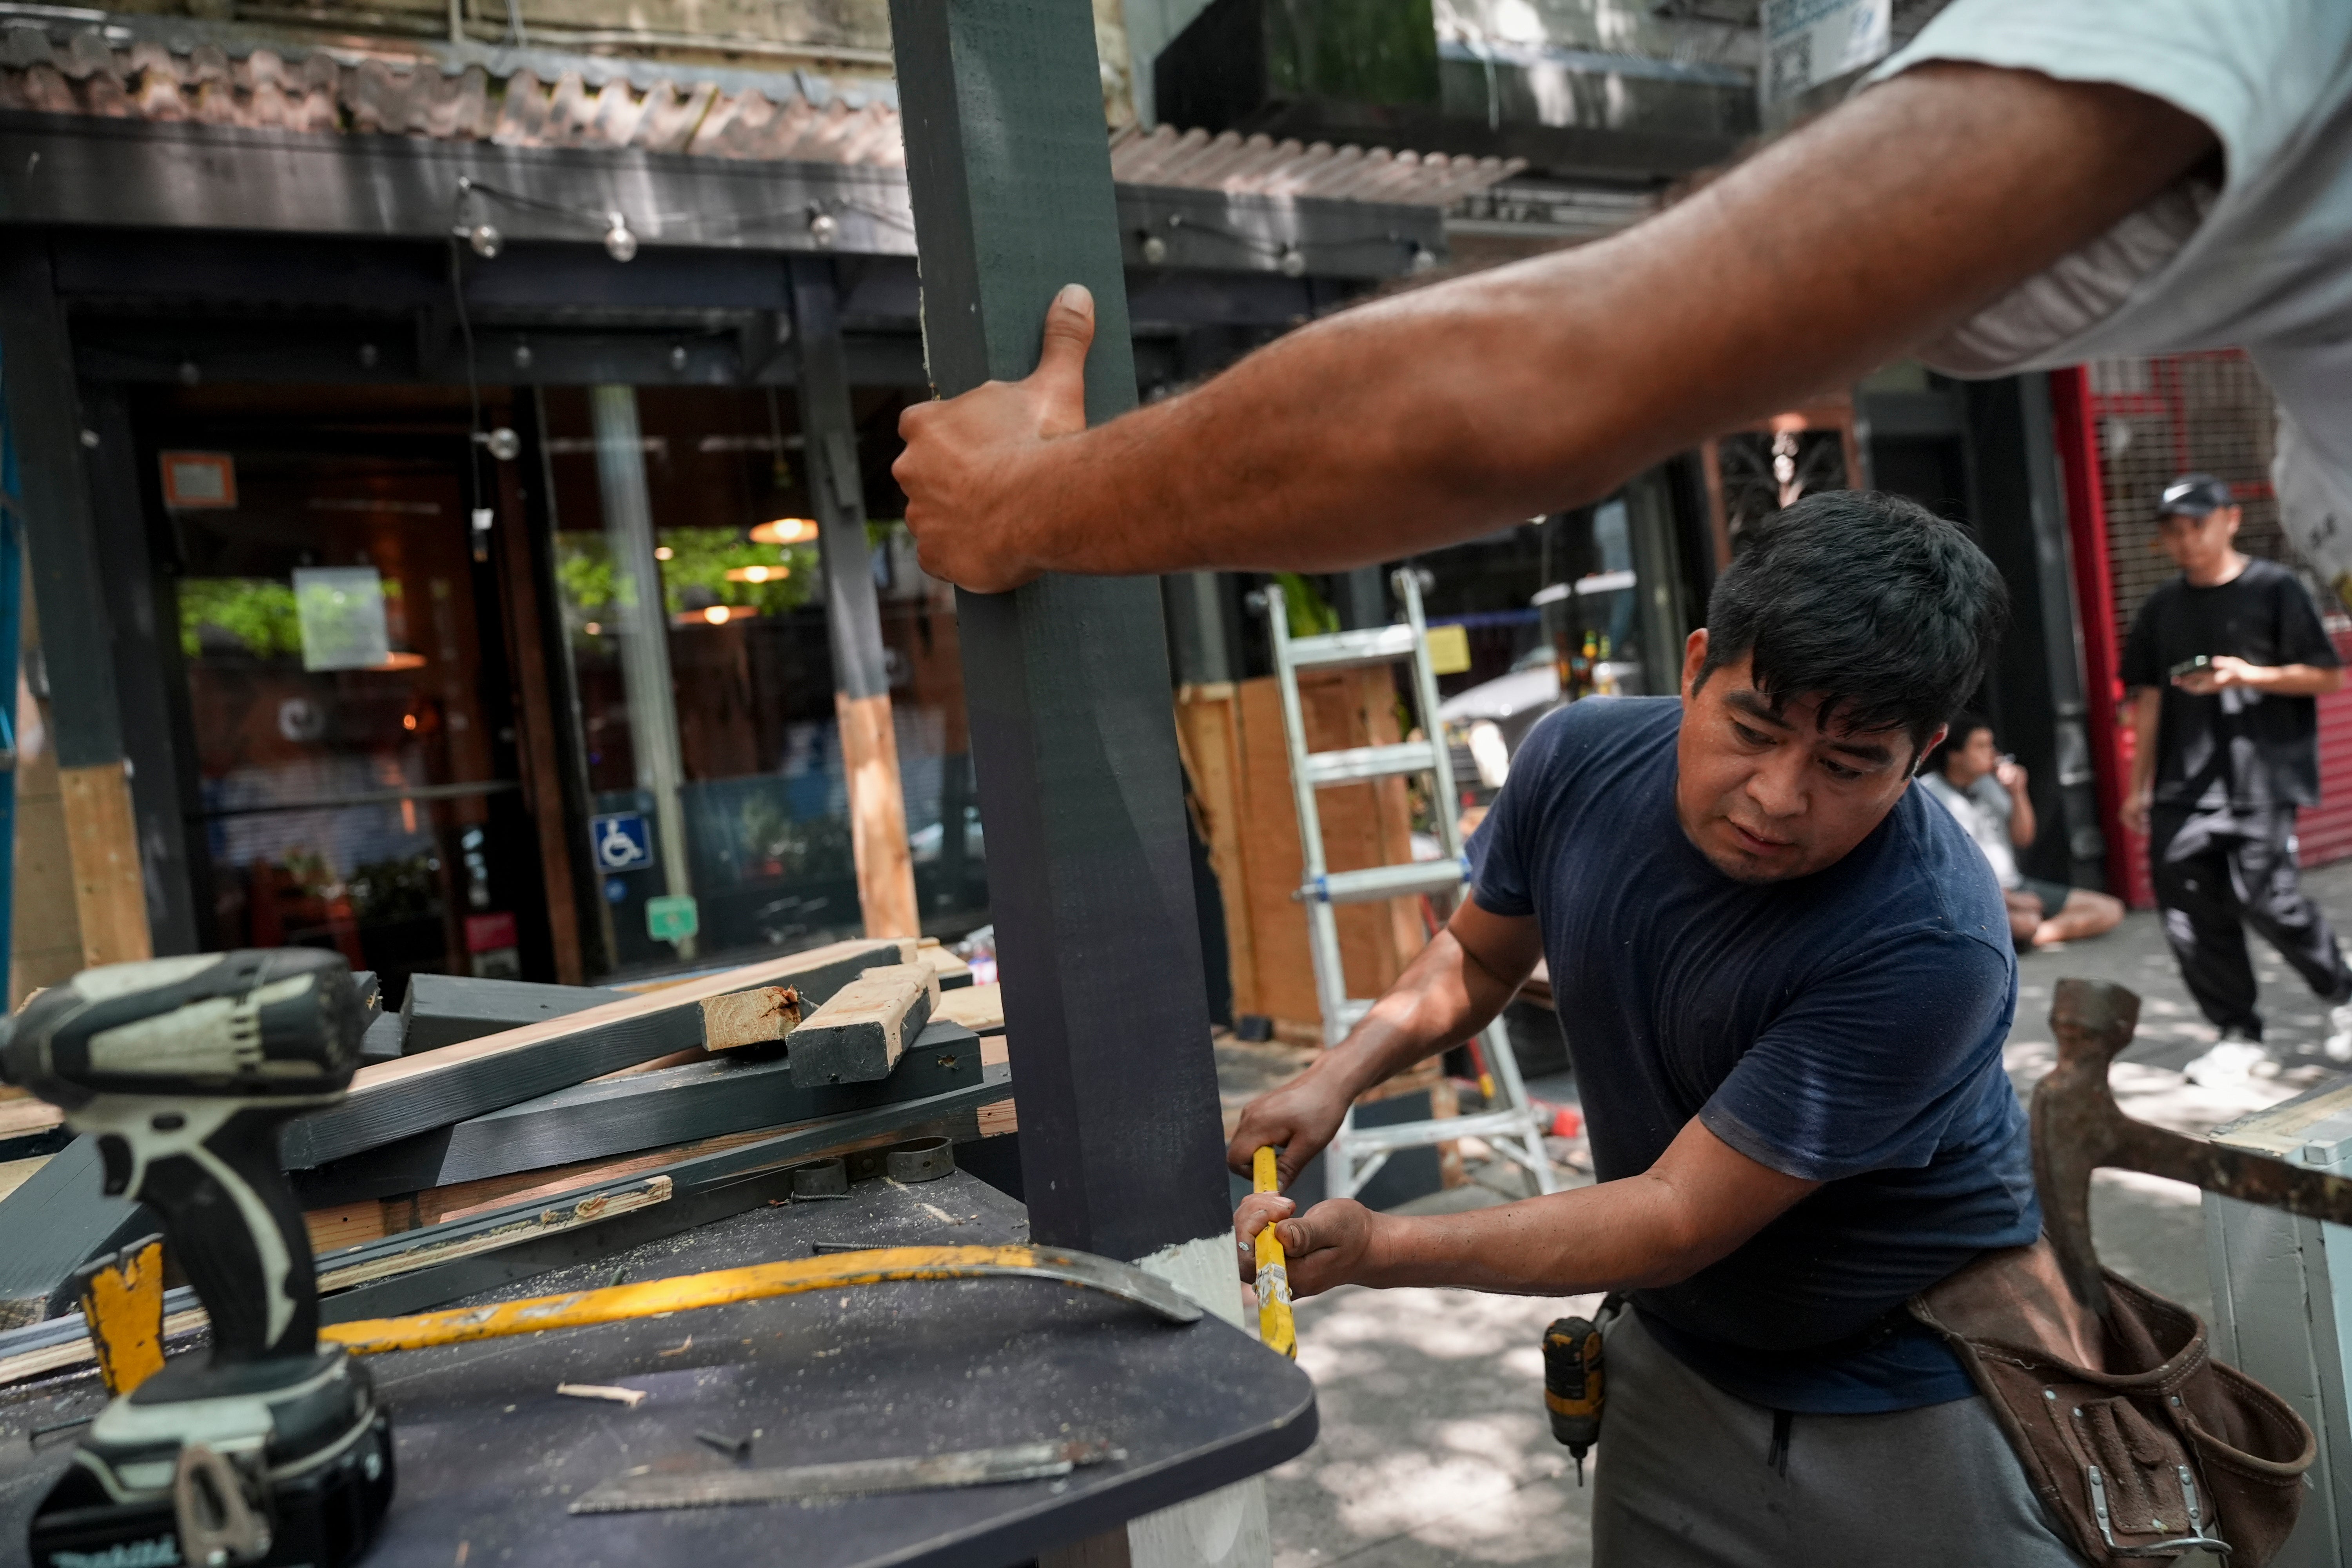
<path fill-rule="evenodd" d="M 541 1274 L 468 1302 L 553 1295 L 809 1255 L 811 1241 L 1025 1241 L 1021 1206 L 957 1171 L 858 1182 L 847 1199 L 762 1208 Z M 1049 1281 L 903 1281 L 666 1319 L 372 1356 L 393 1410 L 400 1488 L 372 1568 L 1004 1568 L 1197 1497 L 1315 1441 L 1315 1392 L 1289 1361 L 1204 1316 Z M 644 1389 L 635 1408 L 557 1382 Z M 0 1556 L 12 1556 L 96 1378 L 0 1392 Z M 750 1465 L 814 1465 L 1101 1439 L 1124 1460 L 1056 1481 L 647 1514 L 567 1514 L 630 1472 L 727 1469 L 696 1432 L 753 1436 Z M 463 1556 L 461 1556 L 463 1547 Z"/>

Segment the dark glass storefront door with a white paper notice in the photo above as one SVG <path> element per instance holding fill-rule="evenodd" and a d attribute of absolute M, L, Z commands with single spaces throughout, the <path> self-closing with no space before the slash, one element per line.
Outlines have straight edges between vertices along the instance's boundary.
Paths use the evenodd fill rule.
<path fill-rule="evenodd" d="M 179 388 L 143 409 L 179 545 L 209 933 L 383 976 L 548 973 L 463 397 Z"/>

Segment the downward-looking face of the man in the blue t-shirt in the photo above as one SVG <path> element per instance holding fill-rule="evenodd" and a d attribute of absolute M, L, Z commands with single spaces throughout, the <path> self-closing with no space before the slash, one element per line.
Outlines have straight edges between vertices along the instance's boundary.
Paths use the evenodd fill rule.
<path fill-rule="evenodd" d="M 1750 661 L 1698 684 L 1708 632 L 1682 651 L 1682 736 L 1675 816 L 1715 870 L 1736 882 L 1785 882 L 1842 860 L 1910 785 L 1917 752 L 1898 729 L 1818 726 L 1820 703 L 1795 696 L 1773 712 Z M 1929 745 L 1940 741 L 1940 731 Z"/>

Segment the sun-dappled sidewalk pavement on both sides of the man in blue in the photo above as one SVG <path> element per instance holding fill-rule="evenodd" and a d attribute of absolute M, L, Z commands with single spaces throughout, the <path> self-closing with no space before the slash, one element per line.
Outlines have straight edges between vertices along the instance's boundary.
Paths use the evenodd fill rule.
<path fill-rule="evenodd" d="M 2305 877 L 2338 931 L 2352 931 L 2352 863 Z M 2140 992 L 2140 1034 L 2112 1081 L 2124 1110 L 2201 1133 L 2326 1081 L 2326 1006 L 2270 947 L 2253 943 L 2279 1077 L 2199 1088 L 2180 1067 L 2216 1030 L 2190 1004 L 2154 914 L 2112 936 L 2044 950 L 2018 964 L 2009 1074 L 2020 1093 L 2056 1060 L 2051 987 L 2067 976 Z M 1573 1098 L 1566 1079 L 1534 1088 Z M 1501 1161 L 1472 1161 L 1472 1187 L 1409 1204 L 1432 1213 L 1522 1192 Z M 1564 1173 L 1569 1175 L 1569 1173 Z M 1581 1180 L 1581 1178 L 1573 1178 Z M 2194 1190 L 2103 1171 L 2091 1215 L 2100 1258 L 2211 1316 L 2204 1220 Z M 1543 1413 L 1545 1324 L 1590 1314 L 1597 1295 L 1526 1300 L 1470 1291 L 1343 1288 L 1298 1305 L 1298 1363 L 1315 1378 L 1322 1436 L 1268 1476 L 1275 1568 L 1458 1568 L 1592 1561 L 1590 1490 Z M 1595 1458 L 1606 1455 L 1606 1441 Z M 1764 1455 L 1757 1455 L 1764 1462 Z M 1590 1469 L 1590 1460 L 1588 1460 Z"/>

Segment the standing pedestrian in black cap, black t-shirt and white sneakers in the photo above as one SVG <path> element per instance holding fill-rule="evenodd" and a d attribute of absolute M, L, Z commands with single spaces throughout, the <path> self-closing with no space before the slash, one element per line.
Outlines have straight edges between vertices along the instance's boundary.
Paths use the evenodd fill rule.
<path fill-rule="evenodd" d="M 2270 1058 L 2256 1011 L 2253 926 L 2331 1004 L 2326 1053 L 2352 1060 L 2352 969 L 2303 893 L 2296 811 L 2319 804 L 2319 710 L 2345 684 L 2319 611 L 2286 567 L 2237 548 L 2241 512 L 2213 475 L 2183 475 L 2157 503 L 2157 538 L 2180 576 L 2131 621 L 2129 827 L 2147 835 L 2164 936 L 2220 1044 L 2197 1081 Z"/>

